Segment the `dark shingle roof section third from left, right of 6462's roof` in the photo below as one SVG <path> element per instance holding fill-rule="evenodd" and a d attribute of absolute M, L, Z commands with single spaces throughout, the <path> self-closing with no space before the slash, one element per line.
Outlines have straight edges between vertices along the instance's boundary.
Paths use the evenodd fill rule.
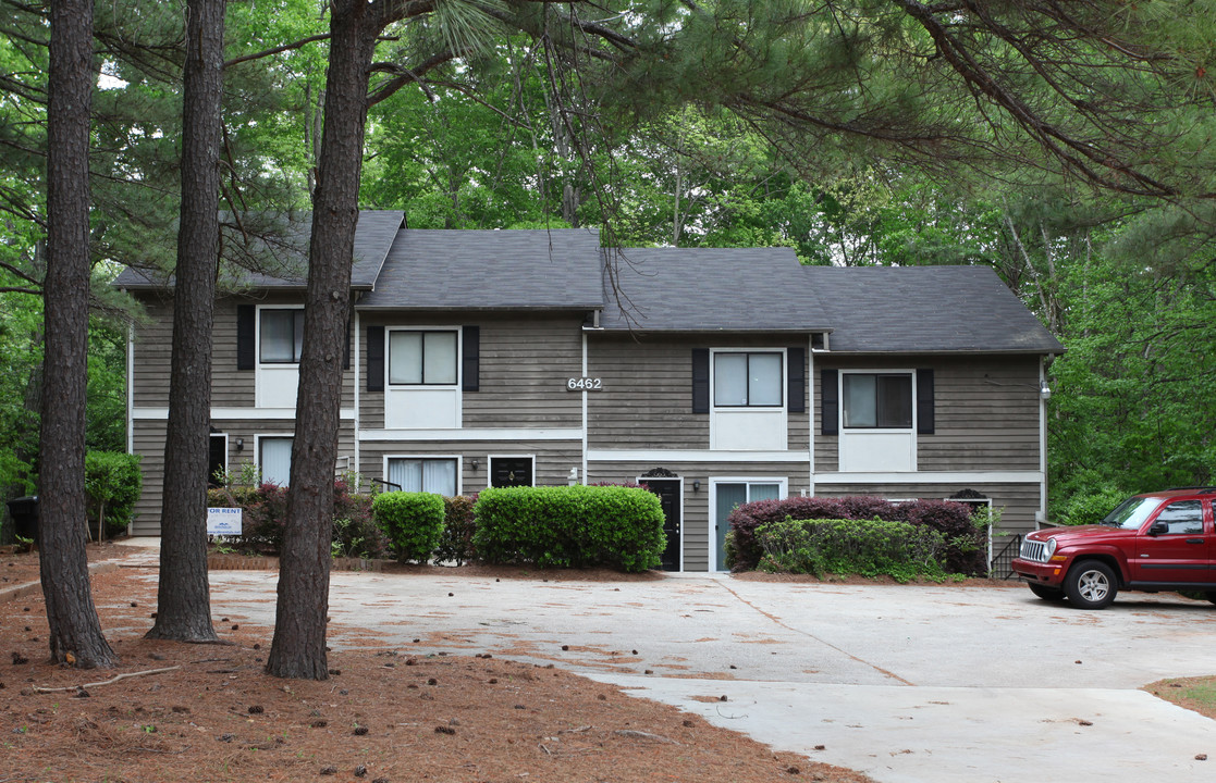
<path fill-rule="evenodd" d="M 626 248 L 609 261 L 609 331 L 827 331 L 790 248 Z M 612 288 L 615 280 L 617 290 Z"/>

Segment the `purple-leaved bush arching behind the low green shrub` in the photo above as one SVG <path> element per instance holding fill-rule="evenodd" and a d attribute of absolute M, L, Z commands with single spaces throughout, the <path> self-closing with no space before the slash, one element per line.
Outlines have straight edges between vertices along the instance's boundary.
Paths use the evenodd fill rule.
<path fill-rule="evenodd" d="M 947 550 L 944 564 L 953 573 L 983 574 L 986 557 L 984 530 L 975 527 L 972 507 L 946 500 L 891 503 L 866 495 L 849 498 L 786 498 L 755 500 L 731 511 L 726 537 L 726 566 L 731 571 L 751 571 L 764 556 L 755 538 L 761 524 L 794 520 L 882 520 L 910 522 L 941 533 Z"/>

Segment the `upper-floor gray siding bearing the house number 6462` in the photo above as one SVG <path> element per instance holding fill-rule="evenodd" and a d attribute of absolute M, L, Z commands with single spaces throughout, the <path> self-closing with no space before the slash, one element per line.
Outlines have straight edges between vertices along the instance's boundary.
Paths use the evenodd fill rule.
<path fill-rule="evenodd" d="M 367 391 L 367 327 L 480 328 L 479 391 L 461 392 L 466 429 L 578 429 L 581 395 L 565 381 L 582 375 L 582 317 L 561 313 L 360 314 L 360 426 L 384 427 L 384 392 Z M 387 358 L 385 358 L 387 361 Z"/>

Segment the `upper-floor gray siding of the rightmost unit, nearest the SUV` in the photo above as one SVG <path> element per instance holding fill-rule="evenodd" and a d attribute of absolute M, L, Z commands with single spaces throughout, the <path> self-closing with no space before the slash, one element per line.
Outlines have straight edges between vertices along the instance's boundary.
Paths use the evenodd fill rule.
<path fill-rule="evenodd" d="M 919 471 L 1040 467 L 1038 357 L 834 357 L 815 354 L 815 469 L 839 469 L 839 442 L 822 431 L 822 370 L 934 370 L 933 435 L 917 435 Z"/>

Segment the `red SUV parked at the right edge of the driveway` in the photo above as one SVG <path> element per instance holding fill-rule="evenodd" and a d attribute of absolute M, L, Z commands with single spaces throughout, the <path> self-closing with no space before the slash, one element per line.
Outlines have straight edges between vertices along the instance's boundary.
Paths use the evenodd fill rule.
<path fill-rule="evenodd" d="M 1135 495 L 1098 524 L 1035 530 L 1013 571 L 1040 598 L 1100 609 L 1120 590 L 1193 590 L 1216 603 L 1216 487 Z"/>

